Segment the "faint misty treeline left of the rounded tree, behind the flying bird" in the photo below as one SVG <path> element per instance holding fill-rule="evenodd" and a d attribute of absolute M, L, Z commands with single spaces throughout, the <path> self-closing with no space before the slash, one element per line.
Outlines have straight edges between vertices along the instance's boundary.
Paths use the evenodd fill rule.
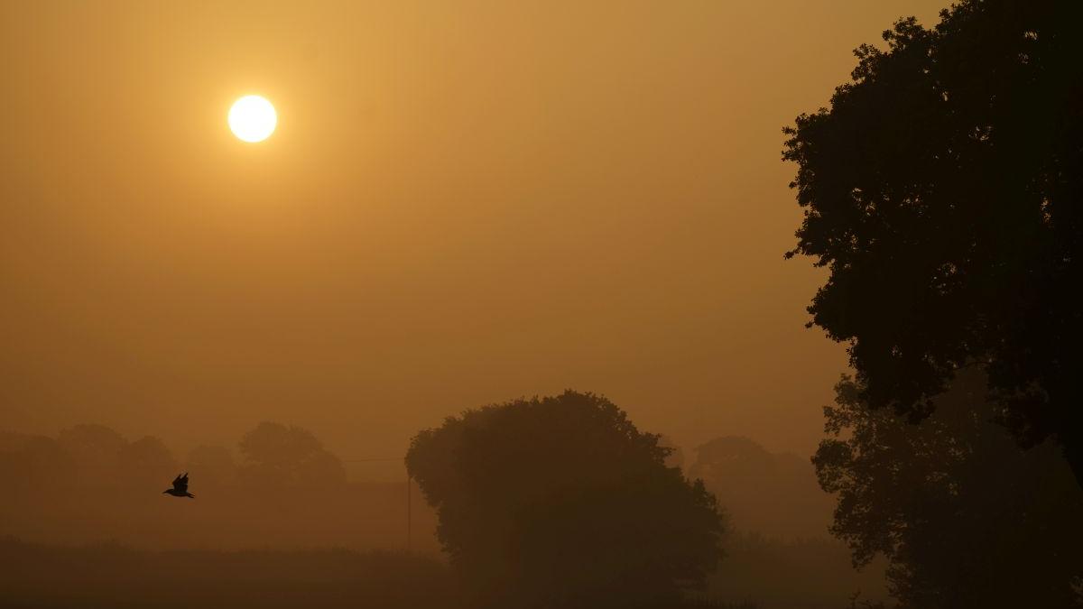
<path fill-rule="evenodd" d="M 338 457 L 304 429 L 262 423 L 237 452 L 203 445 L 178 459 L 157 438 L 129 441 L 101 425 L 55 438 L 0 432 L 0 534 L 139 548 L 439 552 L 419 493 L 407 505 L 405 481 L 348 482 Z M 194 500 L 161 494 L 182 470 Z"/>

